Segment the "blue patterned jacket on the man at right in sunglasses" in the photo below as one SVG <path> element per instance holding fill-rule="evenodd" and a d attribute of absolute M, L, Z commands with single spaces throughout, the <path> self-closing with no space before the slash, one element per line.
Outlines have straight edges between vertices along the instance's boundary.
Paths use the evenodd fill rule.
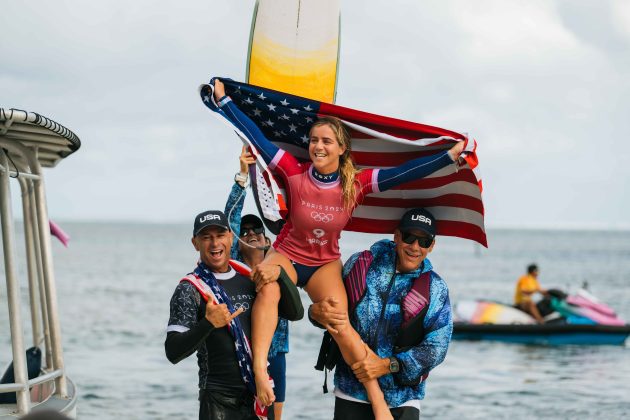
<path fill-rule="evenodd" d="M 421 273 L 432 271 L 433 267 L 425 259 L 420 268 L 411 273 L 396 273 L 395 244 L 389 240 L 376 242 L 370 248 L 374 260 L 367 273 L 365 296 L 357 305 L 351 322 L 364 342 L 379 357 L 396 356 L 400 361 L 400 372 L 381 376 L 378 382 L 390 407 L 398 407 L 406 401 L 424 398 L 425 381 L 422 375 L 439 365 L 446 356 L 453 332 L 451 305 L 446 283 L 435 272 L 431 275 L 431 299 L 424 318 L 425 337 L 411 349 L 394 354 L 394 342 L 402 323 L 401 301 L 409 292 Z M 360 253 L 350 257 L 343 268 L 348 275 Z M 381 328 L 379 318 L 383 309 L 383 295 L 392 279 L 395 280 L 386 302 Z M 421 381 L 421 382 L 420 382 Z M 356 379 L 352 370 L 343 360 L 335 369 L 335 386 L 345 394 L 368 401 L 363 385 Z"/>

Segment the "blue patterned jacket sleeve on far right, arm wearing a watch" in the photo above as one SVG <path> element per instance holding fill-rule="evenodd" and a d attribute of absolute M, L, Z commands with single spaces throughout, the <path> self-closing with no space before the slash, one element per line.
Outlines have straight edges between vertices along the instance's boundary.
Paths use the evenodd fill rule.
<path fill-rule="evenodd" d="M 444 280 L 434 275 L 431 279 L 431 303 L 424 318 L 425 337 L 422 342 L 405 352 L 395 354 L 400 371 L 394 378 L 400 384 L 417 384 L 422 375 L 442 363 L 453 333 L 453 319 L 448 288 Z"/>

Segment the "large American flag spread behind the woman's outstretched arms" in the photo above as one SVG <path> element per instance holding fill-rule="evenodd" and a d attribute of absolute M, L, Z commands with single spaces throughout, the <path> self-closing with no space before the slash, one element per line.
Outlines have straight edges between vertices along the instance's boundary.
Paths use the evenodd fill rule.
<path fill-rule="evenodd" d="M 392 233 L 407 209 L 424 207 L 436 217 L 438 235 L 471 239 L 487 247 L 475 140 L 439 127 L 370 114 L 230 79 L 221 81 L 226 94 L 270 141 L 304 161 L 309 159 L 309 130 L 319 116 L 333 116 L 344 122 L 352 137 L 352 157 L 359 168 L 398 166 L 416 157 L 440 153 L 457 141 L 466 141 L 463 163 L 368 195 L 352 213 L 345 230 Z M 217 110 L 212 84 L 201 85 L 200 95 L 208 108 Z M 213 114 L 230 124 L 224 113 Z M 243 133 L 231 127 L 252 146 Z M 257 205 L 267 222 L 275 221 L 285 215 L 283 206 L 288 201 L 281 196 L 284 193 L 281 180 L 274 179 L 262 159 L 257 162 L 262 169 L 258 174 L 258 188 L 255 188 Z M 276 207 L 272 211 L 266 208 L 270 203 Z"/>

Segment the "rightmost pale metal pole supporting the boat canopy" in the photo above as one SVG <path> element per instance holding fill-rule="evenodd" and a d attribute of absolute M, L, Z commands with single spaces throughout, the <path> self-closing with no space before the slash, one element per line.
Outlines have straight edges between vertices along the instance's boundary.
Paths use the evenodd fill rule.
<path fill-rule="evenodd" d="M 37 153 L 35 151 L 35 153 Z M 42 252 L 42 265 L 44 268 L 44 284 L 46 289 L 46 306 L 48 308 L 48 322 L 50 324 L 50 339 L 52 345 L 52 362 L 54 370 L 64 372 L 62 376 L 55 380 L 55 393 L 61 397 L 68 396 L 68 384 L 63 364 L 63 348 L 61 346 L 61 325 L 59 323 L 59 309 L 57 307 L 57 289 L 55 286 L 55 274 L 52 260 L 52 245 L 50 243 L 50 225 L 48 222 L 48 209 L 46 207 L 46 192 L 44 191 L 44 180 L 41 165 L 32 156 L 29 159 L 31 173 L 40 175 L 39 179 L 33 181 L 35 188 L 35 202 L 37 207 L 37 227 L 39 230 L 39 241 Z"/>

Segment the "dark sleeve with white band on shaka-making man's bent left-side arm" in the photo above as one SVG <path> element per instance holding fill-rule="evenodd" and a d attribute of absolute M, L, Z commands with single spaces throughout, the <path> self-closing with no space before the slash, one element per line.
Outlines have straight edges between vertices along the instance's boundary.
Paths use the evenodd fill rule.
<path fill-rule="evenodd" d="M 188 282 L 177 285 L 171 298 L 171 316 L 166 328 L 164 350 L 171 363 L 178 363 L 193 354 L 214 330 L 214 326 L 205 318 L 197 320 L 199 302 L 195 299 L 198 292 Z"/>

